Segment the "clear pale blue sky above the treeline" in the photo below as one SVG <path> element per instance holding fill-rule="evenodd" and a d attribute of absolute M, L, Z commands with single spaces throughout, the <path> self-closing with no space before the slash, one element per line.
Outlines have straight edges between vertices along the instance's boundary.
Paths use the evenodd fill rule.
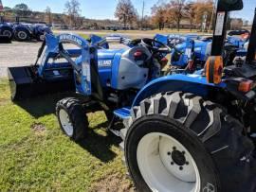
<path fill-rule="evenodd" d="M 90 19 L 115 19 L 114 12 L 118 0 L 79 0 L 82 16 Z M 139 15 L 141 15 L 143 0 L 131 0 Z M 150 15 L 151 8 L 158 0 L 145 0 L 145 15 Z M 164 0 L 161 0 L 164 1 Z M 168 0 L 166 0 L 167 2 Z M 52 12 L 63 13 L 65 0 L 2 0 L 4 7 L 13 8 L 16 4 L 25 3 L 32 10 L 44 11 L 50 7 Z M 256 0 L 244 0 L 245 8 L 234 11 L 231 17 L 240 17 L 252 21 Z"/>

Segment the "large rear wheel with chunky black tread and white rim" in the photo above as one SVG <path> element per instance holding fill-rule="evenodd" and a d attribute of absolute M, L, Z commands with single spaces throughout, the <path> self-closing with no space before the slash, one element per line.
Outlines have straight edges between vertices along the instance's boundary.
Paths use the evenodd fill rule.
<path fill-rule="evenodd" d="M 218 105 L 192 94 L 158 94 L 134 107 L 131 117 L 124 124 L 126 128 L 121 132 L 126 165 L 138 191 L 255 190 L 256 163 L 252 157 L 254 146 L 242 134 L 243 126 Z M 155 140 L 152 137 L 151 141 L 150 136 L 157 134 L 158 137 Z M 187 165 L 184 165 L 185 155 L 180 155 L 182 151 L 174 152 L 174 146 L 166 147 L 168 150 L 165 151 L 166 148 L 161 145 L 165 138 L 169 138 L 169 141 L 176 140 L 185 148 L 184 154 L 191 154 L 196 165 L 194 170 L 199 174 L 191 187 L 188 184 L 192 184 L 192 181 L 190 183 L 182 176 L 189 172 L 186 171 Z M 161 153 L 163 150 L 164 153 Z M 166 157 L 163 158 L 161 154 Z M 191 158 L 185 157 L 186 161 L 192 162 Z M 157 158 L 161 164 L 158 168 Z M 170 164 L 162 163 L 166 162 L 166 158 L 170 159 Z M 173 166 L 180 165 L 183 166 L 180 171 L 186 171 L 181 174 L 181 178 L 173 170 Z M 164 171 L 159 170 L 165 170 L 169 174 L 163 174 Z M 199 182 L 198 190 L 195 190 L 198 186 L 196 182 Z"/>

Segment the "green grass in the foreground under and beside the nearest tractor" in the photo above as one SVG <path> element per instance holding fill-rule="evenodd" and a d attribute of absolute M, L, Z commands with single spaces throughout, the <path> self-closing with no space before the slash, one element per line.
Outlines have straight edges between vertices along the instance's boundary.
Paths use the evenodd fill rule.
<path fill-rule="evenodd" d="M 131 191 L 119 138 L 105 131 L 102 112 L 88 114 L 90 133 L 77 144 L 54 115 L 61 95 L 9 100 L 0 79 L 0 191 Z"/>

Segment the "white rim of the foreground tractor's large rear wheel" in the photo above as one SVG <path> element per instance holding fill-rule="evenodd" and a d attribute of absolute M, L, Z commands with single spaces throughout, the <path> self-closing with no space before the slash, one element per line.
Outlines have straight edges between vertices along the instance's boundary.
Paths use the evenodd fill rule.
<path fill-rule="evenodd" d="M 181 163 L 184 165 L 179 166 Z M 152 191 L 200 191 L 199 170 L 191 153 L 167 134 L 152 132 L 142 137 L 137 146 L 137 165 Z"/>

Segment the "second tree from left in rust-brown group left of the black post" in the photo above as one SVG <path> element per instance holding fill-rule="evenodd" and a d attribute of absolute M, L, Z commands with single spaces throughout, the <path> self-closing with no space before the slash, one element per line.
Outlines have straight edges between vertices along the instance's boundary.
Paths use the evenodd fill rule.
<path fill-rule="evenodd" d="M 186 0 L 171 0 L 169 9 L 173 12 L 173 19 L 177 25 L 177 30 L 180 28 L 180 22 L 183 18 Z"/>

